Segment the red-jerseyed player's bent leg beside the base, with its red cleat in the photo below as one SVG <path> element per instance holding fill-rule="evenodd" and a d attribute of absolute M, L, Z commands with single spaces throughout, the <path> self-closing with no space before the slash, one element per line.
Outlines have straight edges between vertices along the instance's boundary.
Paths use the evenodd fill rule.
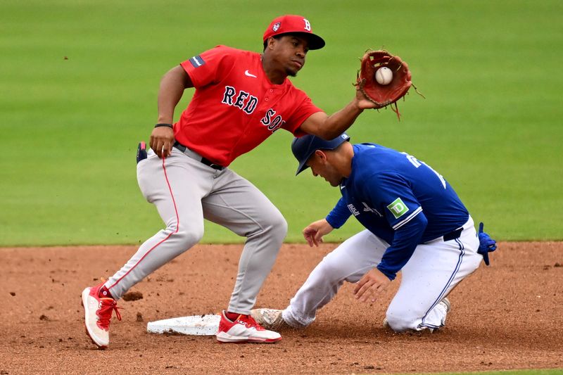
<path fill-rule="evenodd" d="M 233 321 L 249 318 L 256 296 L 287 234 L 286 220 L 261 191 L 232 170 L 217 172 L 213 193 L 203 198 L 202 203 L 206 219 L 227 227 L 239 236 L 246 236 L 234 291 L 217 339 L 224 342 L 279 340 L 281 336 L 278 333 L 248 332 L 242 326 L 232 327 L 232 324 Z M 239 314 L 243 317 L 236 319 Z"/>

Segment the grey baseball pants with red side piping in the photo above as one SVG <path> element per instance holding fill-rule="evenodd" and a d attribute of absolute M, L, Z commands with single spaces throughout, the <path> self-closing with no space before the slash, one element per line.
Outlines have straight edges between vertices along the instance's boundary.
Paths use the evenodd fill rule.
<path fill-rule="evenodd" d="M 141 192 L 156 205 L 166 228 L 146 240 L 106 281 L 114 298 L 198 243 L 205 218 L 246 236 L 228 310 L 249 314 L 255 305 L 287 234 L 286 220 L 246 179 L 228 168 L 215 170 L 200 160 L 201 156 L 189 149 L 172 148 L 172 155 L 165 159 L 148 151 L 148 158 L 137 165 Z"/>

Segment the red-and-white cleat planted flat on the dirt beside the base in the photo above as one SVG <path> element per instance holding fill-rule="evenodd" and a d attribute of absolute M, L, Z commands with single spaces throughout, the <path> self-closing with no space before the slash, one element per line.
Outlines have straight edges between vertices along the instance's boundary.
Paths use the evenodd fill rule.
<path fill-rule="evenodd" d="M 275 343 L 281 340 L 279 333 L 260 326 L 251 315 L 241 314 L 231 322 L 225 317 L 224 310 L 215 336 L 221 343 Z"/>

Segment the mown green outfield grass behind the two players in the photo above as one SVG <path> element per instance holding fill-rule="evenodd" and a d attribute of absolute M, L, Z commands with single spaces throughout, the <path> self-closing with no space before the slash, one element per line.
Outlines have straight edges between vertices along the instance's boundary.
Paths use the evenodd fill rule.
<path fill-rule="evenodd" d="M 139 243 L 160 229 L 134 163 L 156 121 L 160 77 L 216 44 L 260 51 L 282 13 L 305 15 L 327 41 L 293 80 L 327 113 L 352 98 L 365 49 L 409 63 L 426 99 L 412 91 L 400 122 L 391 110 L 362 114 L 353 141 L 424 160 L 498 240 L 563 239 L 560 1 L 5 0 L 0 246 Z M 232 168 L 284 213 L 287 241 L 301 241 L 339 191 L 294 177 L 290 141 L 274 134 Z M 350 220 L 327 241 L 359 229 Z M 203 241 L 242 239 L 206 224 Z"/>

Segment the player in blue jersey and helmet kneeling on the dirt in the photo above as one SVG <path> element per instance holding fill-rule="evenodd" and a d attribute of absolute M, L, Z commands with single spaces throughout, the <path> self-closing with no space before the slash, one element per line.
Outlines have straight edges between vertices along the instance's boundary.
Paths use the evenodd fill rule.
<path fill-rule="evenodd" d="M 310 246 L 341 227 L 350 215 L 366 228 L 329 253 L 311 272 L 285 310 L 256 309 L 265 327 L 308 326 L 344 281 L 355 298 L 375 301 L 402 272 L 386 312 L 394 331 L 445 324 L 448 293 L 479 267 L 495 241 L 479 230 L 452 186 L 426 163 L 377 144 L 350 144 L 342 134 L 324 141 L 306 135 L 293 140 L 297 174 L 312 174 L 339 186 L 342 198 L 326 218 L 303 229 Z M 481 246 L 480 246 L 481 240 Z M 488 263 L 488 258 L 486 258 Z"/>

